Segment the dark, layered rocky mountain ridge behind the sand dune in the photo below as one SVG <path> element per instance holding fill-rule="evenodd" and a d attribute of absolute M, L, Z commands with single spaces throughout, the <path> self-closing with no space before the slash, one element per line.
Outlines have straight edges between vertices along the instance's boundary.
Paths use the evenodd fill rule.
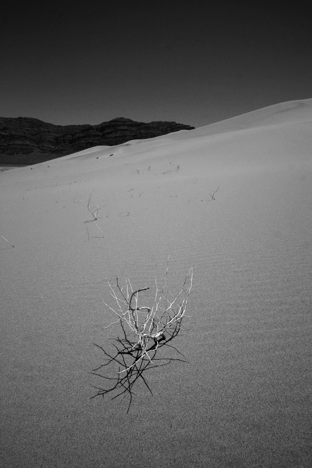
<path fill-rule="evenodd" d="M 99 125 L 65 126 L 30 117 L 0 117 L 0 163 L 35 164 L 92 146 L 120 145 L 193 128 L 175 122 L 145 124 L 123 117 Z"/>

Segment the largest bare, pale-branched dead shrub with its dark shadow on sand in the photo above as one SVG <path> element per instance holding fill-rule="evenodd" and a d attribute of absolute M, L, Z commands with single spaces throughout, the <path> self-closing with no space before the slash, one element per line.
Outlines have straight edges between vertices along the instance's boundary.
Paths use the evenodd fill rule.
<path fill-rule="evenodd" d="M 180 291 L 178 294 L 173 295 L 167 289 L 168 260 L 162 288 L 158 288 L 157 279 L 155 279 L 156 293 L 151 307 L 139 305 L 138 303 L 139 293 L 146 291 L 149 289 L 148 287 L 133 291 L 129 280 L 126 280 L 125 287 L 120 287 L 118 278 L 116 286 L 109 284 L 110 293 L 116 300 L 117 307 L 113 308 L 107 304 L 105 305 L 117 315 L 117 320 L 104 328 L 119 323 L 123 337 L 118 336 L 113 339 L 115 352 L 109 353 L 101 346 L 96 345 L 105 354 L 106 362 L 94 369 L 93 374 L 111 381 L 113 385 L 106 389 L 96 387 L 98 393 L 94 396 L 104 396 L 106 393 L 115 390 L 118 393 L 112 399 L 123 394 L 129 394 L 130 404 L 128 410 L 132 400 L 132 388 L 138 378 L 144 381 L 151 392 L 142 375 L 143 372 L 150 368 L 165 366 L 173 361 L 185 362 L 183 359 L 173 358 L 171 355 L 159 357 L 157 354 L 163 346 L 167 346 L 168 351 L 174 350 L 181 355 L 170 342 L 179 334 L 184 325 L 182 322 L 186 317 L 186 305 L 193 279 L 193 270 L 190 268 Z M 110 365 L 117 365 L 117 377 L 108 377 L 97 372 Z"/>

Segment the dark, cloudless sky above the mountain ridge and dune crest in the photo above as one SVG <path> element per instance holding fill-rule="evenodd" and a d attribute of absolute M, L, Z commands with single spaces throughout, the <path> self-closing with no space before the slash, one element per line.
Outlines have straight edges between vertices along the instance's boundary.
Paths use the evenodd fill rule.
<path fill-rule="evenodd" d="M 308 2 L 6 3 L 1 117 L 199 127 L 312 98 Z"/>

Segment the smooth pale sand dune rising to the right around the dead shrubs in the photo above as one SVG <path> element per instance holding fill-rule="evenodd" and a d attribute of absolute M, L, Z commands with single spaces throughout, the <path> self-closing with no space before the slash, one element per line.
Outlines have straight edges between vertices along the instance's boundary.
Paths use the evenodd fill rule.
<path fill-rule="evenodd" d="M 7 170 L 0 199 L 2 466 L 311 466 L 312 99 Z M 107 280 L 153 294 L 169 255 L 188 362 L 127 414 L 90 399 Z"/>

